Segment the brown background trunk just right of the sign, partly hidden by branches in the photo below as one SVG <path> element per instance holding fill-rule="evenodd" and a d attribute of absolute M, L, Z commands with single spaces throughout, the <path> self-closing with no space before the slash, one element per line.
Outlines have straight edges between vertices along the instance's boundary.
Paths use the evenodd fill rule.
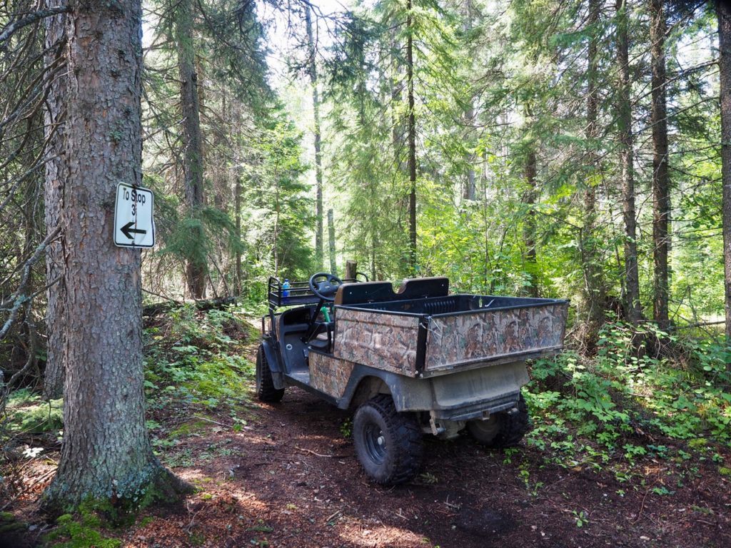
<path fill-rule="evenodd" d="M 193 42 L 193 1 L 181 0 L 175 12 L 175 39 L 178 45 L 178 77 L 181 81 L 181 109 L 183 115 L 183 174 L 185 198 L 189 214 L 203 205 L 203 145 L 200 134 L 200 96 L 198 75 L 195 71 Z M 202 234 L 192 237 L 201 238 Z M 205 297 L 205 257 L 192 256 L 186 265 L 188 291 L 194 299 Z"/>

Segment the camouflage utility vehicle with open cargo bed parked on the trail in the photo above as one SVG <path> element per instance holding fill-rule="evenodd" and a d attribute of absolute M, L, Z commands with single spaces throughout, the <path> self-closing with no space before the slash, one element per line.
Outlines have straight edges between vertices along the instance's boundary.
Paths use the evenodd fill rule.
<path fill-rule="evenodd" d="M 358 460 L 380 484 L 412 479 L 424 433 L 453 438 L 466 427 L 497 447 L 523 438 L 526 359 L 561 350 L 566 300 L 450 294 L 447 278 L 409 279 L 394 292 L 356 278 L 317 273 L 284 289 L 269 279 L 259 400 L 279 402 L 296 386 L 355 410 Z"/>

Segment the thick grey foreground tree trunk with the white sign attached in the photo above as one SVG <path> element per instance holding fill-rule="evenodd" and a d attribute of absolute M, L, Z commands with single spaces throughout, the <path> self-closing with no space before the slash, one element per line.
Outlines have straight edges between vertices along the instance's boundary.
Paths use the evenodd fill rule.
<path fill-rule="evenodd" d="M 115 186 L 142 183 L 140 0 L 67 14 L 64 441 L 50 507 L 132 500 L 170 473 L 145 428 L 140 251 L 114 246 Z M 59 318 L 55 319 L 56 321 Z"/>

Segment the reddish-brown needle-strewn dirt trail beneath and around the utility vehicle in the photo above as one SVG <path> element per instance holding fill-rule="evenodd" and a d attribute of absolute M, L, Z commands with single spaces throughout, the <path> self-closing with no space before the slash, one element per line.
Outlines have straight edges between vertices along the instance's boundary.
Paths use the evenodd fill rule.
<path fill-rule="evenodd" d="M 253 359 L 249 339 L 243 347 Z M 252 382 L 241 387 L 249 397 Z M 360 469 L 349 414 L 300 389 L 287 389 L 276 405 L 247 401 L 236 414 L 214 406 L 181 416 L 162 406 L 152 415 L 172 440 L 161 459 L 197 492 L 145 509 L 132 526 L 103 530 L 113 544 L 68 546 L 731 546 L 731 482 L 708 460 L 678 476 L 675 465 L 645 459 L 621 481 L 608 470 L 548 464 L 525 444 L 486 451 L 466 436 L 427 438 L 420 475 L 387 489 Z M 37 498 L 57 457 L 51 449 L 24 468 L 32 487 L 10 510 L 32 525 L 0 534 L 0 547 L 39 545 L 51 527 Z"/>

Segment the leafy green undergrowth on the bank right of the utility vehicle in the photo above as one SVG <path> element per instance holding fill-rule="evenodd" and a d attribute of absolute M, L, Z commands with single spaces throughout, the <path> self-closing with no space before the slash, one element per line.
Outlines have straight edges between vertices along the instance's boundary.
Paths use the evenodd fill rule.
<path fill-rule="evenodd" d="M 528 443 L 554 463 L 611 468 L 620 480 L 650 460 L 708 460 L 722 473 L 731 465 L 721 456 L 731 448 L 730 349 L 648 328 L 643 336 L 663 340 L 673 358 L 638 356 L 632 336 L 626 324 L 607 324 L 596 357 L 565 351 L 532 365 Z"/>

